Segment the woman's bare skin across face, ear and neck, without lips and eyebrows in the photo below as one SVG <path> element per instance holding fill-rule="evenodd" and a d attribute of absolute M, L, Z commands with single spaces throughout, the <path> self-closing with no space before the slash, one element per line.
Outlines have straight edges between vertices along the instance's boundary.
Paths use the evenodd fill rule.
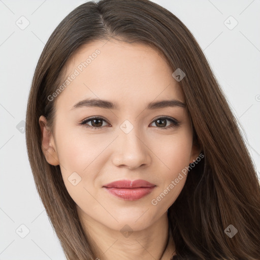
<path fill-rule="evenodd" d="M 85 232 L 96 244 L 96 258 L 169 260 L 175 254 L 175 244 L 171 236 L 168 240 L 167 209 L 179 196 L 187 176 L 183 175 L 170 191 L 169 185 L 199 156 L 199 149 L 192 143 L 186 108 L 146 107 L 163 100 L 185 103 L 184 94 L 158 51 L 115 40 L 83 46 L 70 59 L 64 79 L 96 49 L 100 54 L 51 101 L 57 109 L 54 133 L 46 127 L 46 118 L 39 118 L 43 152 L 49 164 L 60 165 Z M 118 110 L 72 109 L 87 98 L 116 103 Z M 93 116 L 103 120 L 80 125 Z M 165 117 L 179 121 L 179 125 Z M 163 121 L 156 123 L 159 118 Z M 126 134 L 122 125 L 133 129 Z M 77 185 L 68 180 L 74 172 L 74 179 L 81 178 Z M 156 187 L 136 201 L 118 198 L 103 187 L 122 179 L 143 179 Z M 152 204 L 167 187 L 168 194 Z"/>

